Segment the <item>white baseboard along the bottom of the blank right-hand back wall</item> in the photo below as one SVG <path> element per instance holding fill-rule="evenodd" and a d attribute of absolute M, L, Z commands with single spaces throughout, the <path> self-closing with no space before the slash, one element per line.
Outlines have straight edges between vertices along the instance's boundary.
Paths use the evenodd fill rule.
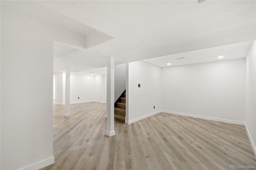
<path fill-rule="evenodd" d="M 174 112 L 174 111 L 164 111 L 164 110 L 162 110 L 162 112 L 163 113 L 170 113 L 170 114 L 174 114 L 174 115 L 194 117 L 194 118 L 198 118 L 198 119 L 206 119 L 206 120 L 209 120 L 209 121 L 218 121 L 218 122 L 224 122 L 224 123 L 232 123 L 232 124 L 236 124 L 236 125 L 244 125 L 244 122 L 232 121 L 232 120 L 228 120 L 228 119 L 219 119 L 219 118 L 214 118 L 214 117 L 192 115 L 192 114 L 188 114 L 188 113 L 180 113 L 180 112 Z"/>

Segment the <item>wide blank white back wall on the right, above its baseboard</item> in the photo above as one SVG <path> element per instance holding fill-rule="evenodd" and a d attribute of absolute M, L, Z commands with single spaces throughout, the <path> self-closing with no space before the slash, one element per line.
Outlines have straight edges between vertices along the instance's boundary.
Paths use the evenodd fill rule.
<path fill-rule="evenodd" d="M 162 68 L 162 110 L 229 123 L 244 122 L 245 59 Z"/>

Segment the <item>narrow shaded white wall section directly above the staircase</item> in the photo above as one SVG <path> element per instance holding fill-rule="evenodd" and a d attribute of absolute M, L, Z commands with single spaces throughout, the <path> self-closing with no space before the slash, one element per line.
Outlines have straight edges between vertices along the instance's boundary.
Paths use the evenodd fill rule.
<path fill-rule="evenodd" d="M 122 95 L 126 88 L 126 64 L 115 65 L 115 99 L 117 99 Z"/>

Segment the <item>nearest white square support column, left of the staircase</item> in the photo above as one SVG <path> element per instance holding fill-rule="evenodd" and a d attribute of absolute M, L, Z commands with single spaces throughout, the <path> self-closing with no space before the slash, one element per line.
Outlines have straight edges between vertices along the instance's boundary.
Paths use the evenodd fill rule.
<path fill-rule="evenodd" d="M 114 136 L 114 58 L 108 58 L 107 67 L 107 136 Z"/>

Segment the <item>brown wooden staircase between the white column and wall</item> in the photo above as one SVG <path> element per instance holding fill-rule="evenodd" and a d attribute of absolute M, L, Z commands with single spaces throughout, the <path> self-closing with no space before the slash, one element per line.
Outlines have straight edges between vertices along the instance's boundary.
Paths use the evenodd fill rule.
<path fill-rule="evenodd" d="M 115 103 L 115 119 L 118 121 L 125 122 L 125 114 L 126 114 L 126 98 L 125 98 L 125 93 L 123 93 L 117 102 Z"/>

